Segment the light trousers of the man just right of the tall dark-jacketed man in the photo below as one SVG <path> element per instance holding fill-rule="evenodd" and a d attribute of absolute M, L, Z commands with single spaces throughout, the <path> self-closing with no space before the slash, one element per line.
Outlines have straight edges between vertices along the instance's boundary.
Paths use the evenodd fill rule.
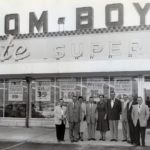
<path fill-rule="evenodd" d="M 130 140 L 128 121 L 122 121 L 123 140 Z"/>

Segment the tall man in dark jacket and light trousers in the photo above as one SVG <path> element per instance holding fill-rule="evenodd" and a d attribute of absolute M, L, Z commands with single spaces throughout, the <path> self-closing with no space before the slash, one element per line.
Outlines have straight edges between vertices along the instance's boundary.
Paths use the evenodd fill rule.
<path fill-rule="evenodd" d="M 121 101 L 115 98 L 115 92 L 111 91 L 110 99 L 107 101 L 109 128 L 111 132 L 110 141 L 118 141 L 118 120 L 120 120 Z"/>

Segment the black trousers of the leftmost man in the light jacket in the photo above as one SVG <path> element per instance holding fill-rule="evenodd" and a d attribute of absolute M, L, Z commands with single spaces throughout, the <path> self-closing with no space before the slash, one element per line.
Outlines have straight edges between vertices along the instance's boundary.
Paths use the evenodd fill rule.
<path fill-rule="evenodd" d="M 64 140 L 64 136 L 65 136 L 65 124 L 62 123 L 60 125 L 57 125 L 56 124 L 56 137 L 57 137 L 57 140 L 59 141 L 63 141 Z"/>

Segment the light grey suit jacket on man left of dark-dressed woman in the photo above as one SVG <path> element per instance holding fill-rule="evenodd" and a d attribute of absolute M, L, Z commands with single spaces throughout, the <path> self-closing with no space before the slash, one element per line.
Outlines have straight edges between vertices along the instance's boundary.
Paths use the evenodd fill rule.
<path fill-rule="evenodd" d="M 92 109 L 90 105 L 90 103 L 86 104 L 86 121 L 87 123 L 96 123 L 95 119 L 98 119 L 97 105 L 93 103 Z"/>

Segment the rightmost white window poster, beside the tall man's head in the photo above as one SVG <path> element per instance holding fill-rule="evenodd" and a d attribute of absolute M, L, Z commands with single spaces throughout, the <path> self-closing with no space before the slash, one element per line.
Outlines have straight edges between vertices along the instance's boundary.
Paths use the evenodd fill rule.
<path fill-rule="evenodd" d="M 119 99 L 123 98 L 123 94 L 132 94 L 132 78 L 130 77 L 117 77 L 114 78 L 114 89 L 116 97 Z"/>

